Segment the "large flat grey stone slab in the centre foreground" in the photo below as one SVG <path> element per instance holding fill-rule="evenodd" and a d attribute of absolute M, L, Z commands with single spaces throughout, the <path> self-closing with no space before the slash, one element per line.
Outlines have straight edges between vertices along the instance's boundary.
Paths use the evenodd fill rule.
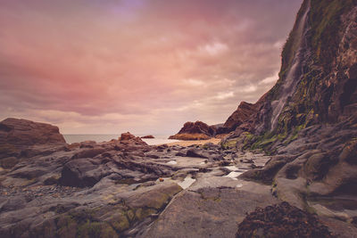
<path fill-rule="evenodd" d="M 179 193 L 137 237 L 235 237 L 246 212 L 274 203 L 278 200 L 270 186 L 229 177 L 202 178 Z"/>

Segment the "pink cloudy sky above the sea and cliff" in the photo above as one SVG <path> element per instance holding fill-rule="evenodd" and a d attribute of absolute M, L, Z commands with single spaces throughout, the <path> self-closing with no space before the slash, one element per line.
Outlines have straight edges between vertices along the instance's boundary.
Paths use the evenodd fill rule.
<path fill-rule="evenodd" d="M 0 0 L 0 119 L 62 134 L 223 123 L 278 79 L 303 0 Z"/>

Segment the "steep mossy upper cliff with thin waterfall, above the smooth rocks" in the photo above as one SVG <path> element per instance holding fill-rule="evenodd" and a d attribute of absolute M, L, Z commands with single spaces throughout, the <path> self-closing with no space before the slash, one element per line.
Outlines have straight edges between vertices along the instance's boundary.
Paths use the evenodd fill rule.
<path fill-rule="evenodd" d="M 357 106 L 356 17 L 353 0 L 305 0 L 282 52 L 277 84 L 251 105 L 255 110 L 239 115 L 238 107 L 229 117 L 225 125 L 238 125 L 232 137 L 245 131 L 291 141 L 305 127 L 352 117 Z"/>

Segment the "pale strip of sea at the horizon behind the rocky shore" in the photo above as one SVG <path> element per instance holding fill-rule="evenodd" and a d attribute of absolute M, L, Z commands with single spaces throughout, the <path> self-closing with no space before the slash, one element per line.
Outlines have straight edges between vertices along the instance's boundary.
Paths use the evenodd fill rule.
<path fill-rule="evenodd" d="M 79 143 L 84 141 L 95 141 L 96 143 L 109 142 L 112 139 L 118 139 L 120 135 L 63 135 L 68 144 Z M 144 135 L 137 135 L 144 136 Z M 170 140 L 169 135 L 154 135 L 154 139 L 142 139 L 146 144 L 169 144 L 179 142 L 178 140 Z"/>

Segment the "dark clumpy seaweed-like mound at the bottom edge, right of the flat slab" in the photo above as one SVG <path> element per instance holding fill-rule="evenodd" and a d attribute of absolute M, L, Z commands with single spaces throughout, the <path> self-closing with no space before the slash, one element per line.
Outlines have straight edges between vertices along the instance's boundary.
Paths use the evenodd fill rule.
<path fill-rule="evenodd" d="M 317 217 L 282 202 L 257 208 L 239 225 L 237 238 L 248 237 L 334 237 Z"/>

